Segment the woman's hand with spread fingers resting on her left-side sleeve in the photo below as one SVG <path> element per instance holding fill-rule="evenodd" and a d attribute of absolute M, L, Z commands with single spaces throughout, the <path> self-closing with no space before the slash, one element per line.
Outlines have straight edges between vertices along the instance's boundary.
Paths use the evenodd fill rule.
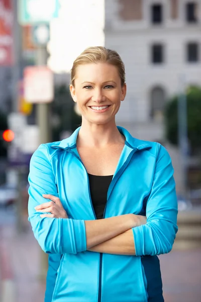
<path fill-rule="evenodd" d="M 68 215 L 58 197 L 50 194 L 43 194 L 43 197 L 50 199 L 51 201 L 36 206 L 35 210 L 37 212 L 50 212 L 51 214 L 41 214 L 40 217 L 68 218 Z"/>

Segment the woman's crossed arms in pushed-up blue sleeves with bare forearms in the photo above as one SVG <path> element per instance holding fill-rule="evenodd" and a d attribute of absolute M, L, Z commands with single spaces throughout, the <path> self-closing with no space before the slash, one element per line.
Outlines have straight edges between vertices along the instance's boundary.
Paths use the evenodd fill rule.
<path fill-rule="evenodd" d="M 89 250 L 142 256 L 168 253 L 172 248 L 177 232 L 177 201 L 171 160 L 162 146 L 147 201 L 147 222 L 145 217 L 134 214 L 99 220 L 41 217 L 43 213 L 35 207 L 44 203 L 42 194 L 58 197 L 46 145 L 41 145 L 32 157 L 29 183 L 29 220 L 46 253 Z"/>

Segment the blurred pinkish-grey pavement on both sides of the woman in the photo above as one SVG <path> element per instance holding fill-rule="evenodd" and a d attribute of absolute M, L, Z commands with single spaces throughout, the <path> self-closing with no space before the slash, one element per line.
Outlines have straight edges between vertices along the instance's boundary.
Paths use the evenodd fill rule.
<path fill-rule="evenodd" d="M 29 225 L 22 236 L 16 235 L 14 225 L 0 229 L 0 289 L 6 295 L 1 302 L 44 301 L 39 257 Z M 165 302 L 201 302 L 201 250 L 173 250 L 159 258 Z"/>

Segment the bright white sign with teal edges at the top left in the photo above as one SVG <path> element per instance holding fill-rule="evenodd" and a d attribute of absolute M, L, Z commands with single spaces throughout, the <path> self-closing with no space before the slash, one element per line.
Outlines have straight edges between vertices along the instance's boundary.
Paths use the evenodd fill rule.
<path fill-rule="evenodd" d="M 58 12 L 59 0 L 19 0 L 18 21 L 21 25 L 49 23 Z"/>

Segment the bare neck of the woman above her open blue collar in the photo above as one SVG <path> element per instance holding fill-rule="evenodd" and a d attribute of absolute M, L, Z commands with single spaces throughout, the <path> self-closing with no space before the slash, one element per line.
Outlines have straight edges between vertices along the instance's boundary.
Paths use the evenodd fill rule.
<path fill-rule="evenodd" d="M 77 137 L 79 146 L 106 147 L 109 144 L 124 143 L 125 138 L 119 132 L 114 121 L 107 124 L 94 124 L 82 120 L 82 125 Z"/>

